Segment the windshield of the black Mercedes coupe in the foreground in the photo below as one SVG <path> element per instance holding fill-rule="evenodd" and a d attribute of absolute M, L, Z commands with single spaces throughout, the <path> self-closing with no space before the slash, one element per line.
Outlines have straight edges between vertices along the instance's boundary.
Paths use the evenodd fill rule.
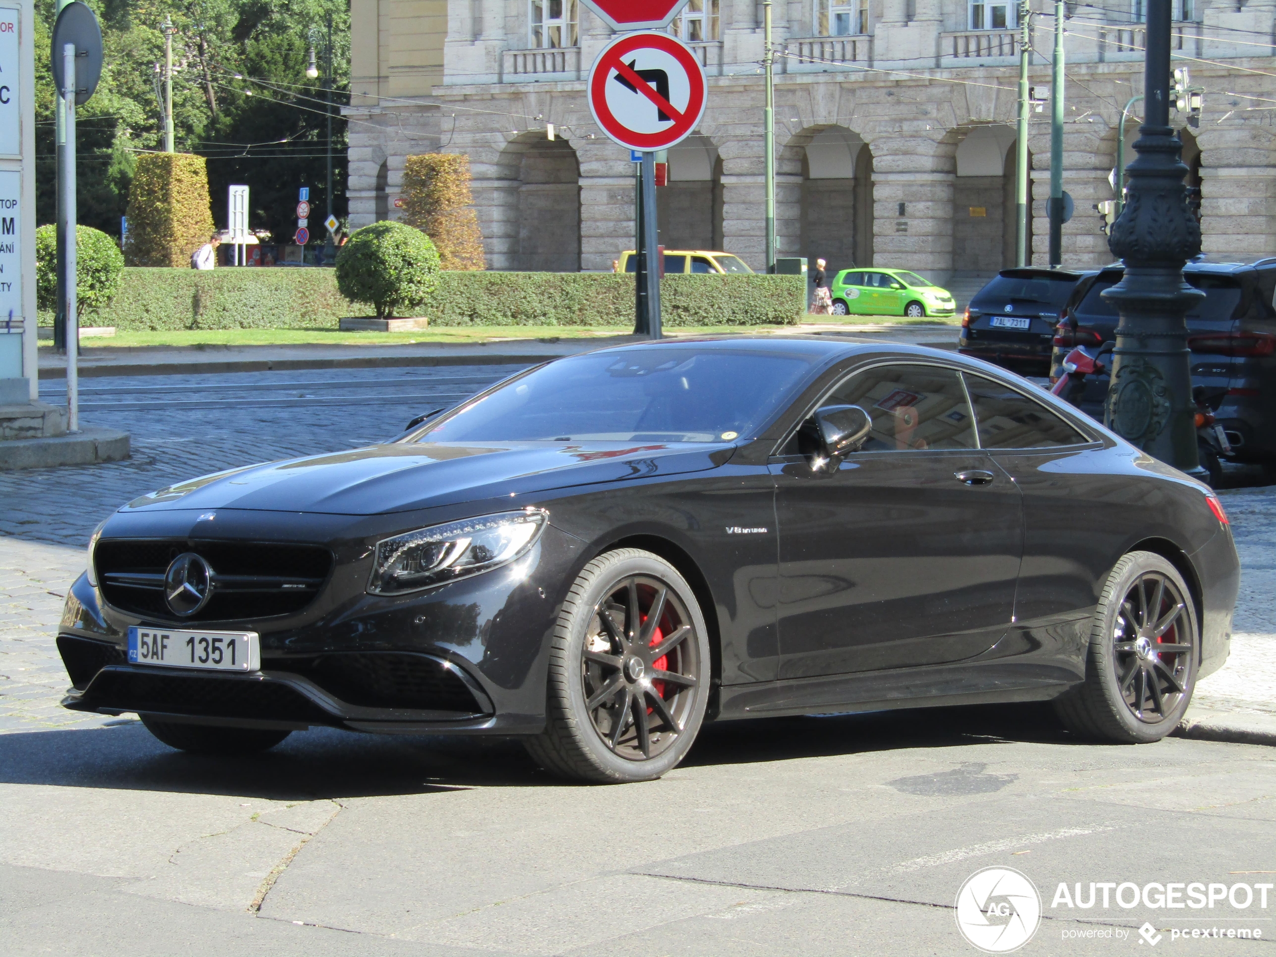
<path fill-rule="evenodd" d="M 813 361 L 685 346 L 572 356 L 463 406 L 416 440 L 731 441 L 790 402 Z"/>

